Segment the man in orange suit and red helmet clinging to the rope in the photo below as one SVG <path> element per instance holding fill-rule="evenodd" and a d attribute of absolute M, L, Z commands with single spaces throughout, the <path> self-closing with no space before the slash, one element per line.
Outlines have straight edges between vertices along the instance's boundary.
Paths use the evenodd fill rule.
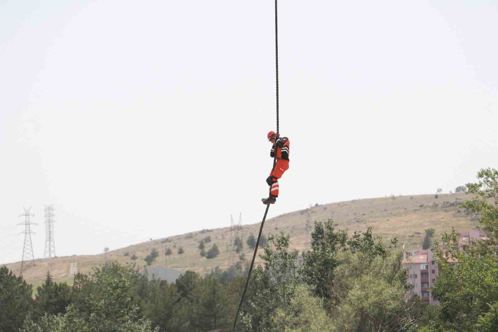
<path fill-rule="evenodd" d="M 270 186 L 270 194 L 268 198 L 261 198 L 263 204 L 274 204 L 278 197 L 278 179 L 289 168 L 289 149 L 290 142 L 286 137 L 276 137 L 274 131 L 271 131 L 266 136 L 273 146 L 270 150 L 270 157 L 275 158 L 276 149 L 276 164 L 271 170 L 270 176 L 266 178 L 266 183 Z"/>

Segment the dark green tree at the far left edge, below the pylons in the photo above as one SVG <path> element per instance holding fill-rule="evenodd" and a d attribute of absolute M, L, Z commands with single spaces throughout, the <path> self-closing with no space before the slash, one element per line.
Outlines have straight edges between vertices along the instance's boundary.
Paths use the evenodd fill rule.
<path fill-rule="evenodd" d="M 0 267 L 0 331 L 18 331 L 31 311 L 31 285 Z"/>

